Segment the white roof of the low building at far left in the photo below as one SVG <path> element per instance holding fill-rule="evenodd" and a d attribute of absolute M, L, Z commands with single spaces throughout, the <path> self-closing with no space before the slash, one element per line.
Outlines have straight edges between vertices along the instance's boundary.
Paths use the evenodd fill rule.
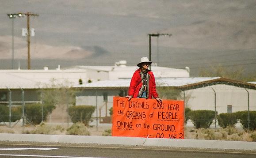
<path fill-rule="evenodd" d="M 85 70 L 0 70 L 0 89 L 38 89 L 53 84 L 72 87 Z"/>

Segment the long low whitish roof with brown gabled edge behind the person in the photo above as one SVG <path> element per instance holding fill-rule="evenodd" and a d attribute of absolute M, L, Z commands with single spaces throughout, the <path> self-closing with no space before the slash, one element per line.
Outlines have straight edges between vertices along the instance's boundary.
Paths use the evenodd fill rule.
<path fill-rule="evenodd" d="M 216 84 L 226 84 L 236 87 L 243 87 L 248 89 L 255 89 L 256 84 L 246 83 L 237 80 L 224 79 L 221 77 L 194 77 L 194 78 L 164 78 L 156 79 L 158 87 L 176 87 L 183 90 L 195 89 L 200 87 L 207 87 Z M 130 79 L 105 80 L 95 83 L 87 83 L 83 85 L 74 86 L 83 89 L 113 89 L 113 88 L 128 88 L 130 86 Z"/>

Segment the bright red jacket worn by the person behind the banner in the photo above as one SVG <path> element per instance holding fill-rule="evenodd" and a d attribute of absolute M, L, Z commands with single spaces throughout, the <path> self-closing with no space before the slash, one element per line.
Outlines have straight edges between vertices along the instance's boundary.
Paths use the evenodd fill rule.
<path fill-rule="evenodd" d="M 131 79 L 130 82 L 130 87 L 128 91 L 128 95 L 132 96 L 133 98 L 138 97 L 138 93 L 142 87 L 142 82 L 141 82 L 141 75 L 140 75 L 141 69 L 138 69 L 134 72 L 134 75 Z M 152 71 L 148 71 L 149 74 L 149 99 L 152 98 L 158 98 L 157 90 L 156 90 L 156 81 L 155 81 L 155 76 Z"/>

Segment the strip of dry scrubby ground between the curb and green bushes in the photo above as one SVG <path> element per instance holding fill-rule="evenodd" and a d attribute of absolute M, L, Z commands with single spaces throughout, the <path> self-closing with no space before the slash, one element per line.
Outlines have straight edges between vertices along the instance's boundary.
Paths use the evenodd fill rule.
<path fill-rule="evenodd" d="M 69 123 L 69 127 L 72 123 Z M 92 127 L 88 127 L 86 130 L 90 132 L 90 135 L 111 135 L 112 124 L 98 124 Z M 45 123 L 44 126 L 22 126 L 21 123 L 16 125 L 12 124 L 12 128 L 9 128 L 9 124 L 0 125 L 0 133 L 25 133 L 25 134 L 67 134 L 67 123 Z M 85 132 L 84 132 L 85 133 Z M 84 135 L 84 134 L 82 134 Z M 200 128 L 188 126 L 184 128 L 185 139 L 208 139 L 208 140 L 232 140 L 232 141 L 256 141 L 256 131 L 246 132 L 243 129 L 237 129 L 235 127 L 229 128 Z"/>

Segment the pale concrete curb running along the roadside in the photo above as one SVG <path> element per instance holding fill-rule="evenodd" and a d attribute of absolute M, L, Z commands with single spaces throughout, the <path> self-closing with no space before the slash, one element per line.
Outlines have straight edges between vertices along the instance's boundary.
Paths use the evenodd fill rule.
<path fill-rule="evenodd" d="M 80 135 L 33 135 L 0 133 L 0 141 L 48 142 L 48 143 L 84 143 L 107 145 L 133 145 L 157 147 L 188 147 L 208 149 L 256 150 L 256 142 L 195 140 L 195 139 L 157 139 L 137 137 L 80 136 Z"/>

